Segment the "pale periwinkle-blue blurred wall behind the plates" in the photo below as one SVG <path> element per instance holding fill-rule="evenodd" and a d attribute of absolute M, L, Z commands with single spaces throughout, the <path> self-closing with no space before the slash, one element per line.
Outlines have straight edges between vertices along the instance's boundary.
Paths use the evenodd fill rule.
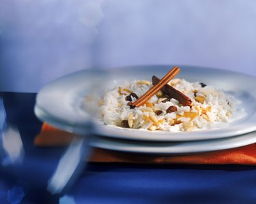
<path fill-rule="evenodd" d="M 256 76 L 254 0 L 0 0 L 0 90 L 89 67 L 176 64 Z"/>

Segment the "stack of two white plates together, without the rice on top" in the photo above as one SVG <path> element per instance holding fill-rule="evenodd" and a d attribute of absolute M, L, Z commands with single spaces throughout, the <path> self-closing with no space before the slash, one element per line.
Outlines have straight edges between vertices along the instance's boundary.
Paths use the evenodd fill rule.
<path fill-rule="evenodd" d="M 180 66 L 179 78 L 203 82 L 239 99 L 246 114 L 225 125 L 203 131 L 171 133 L 106 126 L 86 111 L 88 95 L 102 95 L 124 80 L 149 80 L 163 76 L 171 65 L 83 70 L 48 84 L 38 93 L 35 114 L 59 129 L 81 135 L 94 134 L 90 145 L 108 150 L 141 154 L 195 154 L 246 146 L 256 142 L 256 78 L 241 73 L 205 67 Z M 97 109 L 97 103 L 94 103 Z M 94 109 L 92 108 L 92 109 Z M 239 113 L 238 113 L 239 114 Z"/>

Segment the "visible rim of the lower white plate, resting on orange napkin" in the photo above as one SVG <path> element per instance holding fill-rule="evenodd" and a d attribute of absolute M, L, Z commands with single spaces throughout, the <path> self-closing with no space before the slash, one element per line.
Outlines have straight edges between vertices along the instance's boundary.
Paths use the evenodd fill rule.
<path fill-rule="evenodd" d="M 253 132 L 223 139 L 183 142 L 147 142 L 99 137 L 91 146 L 135 154 L 182 155 L 238 148 L 255 142 L 256 133 Z"/>

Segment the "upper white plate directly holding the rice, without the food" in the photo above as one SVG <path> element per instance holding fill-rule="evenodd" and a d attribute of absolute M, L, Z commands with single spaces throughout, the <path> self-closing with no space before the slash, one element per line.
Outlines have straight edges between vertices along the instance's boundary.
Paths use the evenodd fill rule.
<path fill-rule="evenodd" d="M 82 109 L 82 101 L 93 88 L 113 88 L 124 80 L 147 79 L 152 75 L 165 75 L 171 68 L 168 66 L 123 67 L 108 71 L 79 71 L 60 78 L 44 87 L 38 94 L 35 114 L 41 120 L 73 133 L 87 132 L 91 117 Z M 235 96 L 247 113 L 229 125 L 219 126 L 207 131 L 170 133 L 165 131 L 140 131 L 122 129 L 115 126 L 97 124 L 93 130 L 98 135 L 120 139 L 148 141 L 187 141 L 200 139 L 218 139 L 241 135 L 256 131 L 256 79 L 241 73 L 207 69 L 200 67 L 181 66 L 179 78 L 190 82 L 203 82 Z M 95 90 L 95 89 L 94 89 Z M 97 89 L 98 90 L 98 89 Z M 239 114 L 238 114 L 239 116 Z"/>

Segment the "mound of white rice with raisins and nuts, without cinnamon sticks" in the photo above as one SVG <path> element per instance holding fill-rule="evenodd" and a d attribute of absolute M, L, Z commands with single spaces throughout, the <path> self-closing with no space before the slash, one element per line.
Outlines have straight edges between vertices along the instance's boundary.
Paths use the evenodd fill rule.
<path fill-rule="evenodd" d="M 229 122 L 234 112 L 233 98 L 221 90 L 203 83 L 190 83 L 175 78 L 169 82 L 177 90 L 189 97 L 193 105 L 182 106 L 159 91 L 140 107 L 131 109 L 128 104 L 136 101 L 134 93 L 141 97 L 152 88 L 145 80 L 124 82 L 122 86 L 109 90 L 100 101 L 100 112 L 105 124 L 149 131 L 193 131 L 205 129 L 220 122 Z"/>

